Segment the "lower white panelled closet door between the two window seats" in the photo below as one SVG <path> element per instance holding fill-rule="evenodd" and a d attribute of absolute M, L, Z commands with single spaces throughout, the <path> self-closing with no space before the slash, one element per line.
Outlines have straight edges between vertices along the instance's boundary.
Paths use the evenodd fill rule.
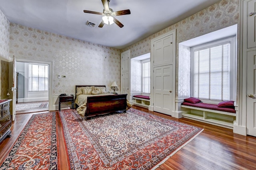
<path fill-rule="evenodd" d="M 172 65 L 154 68 L 154 111 L 174 117 L 172 112 Z"/>

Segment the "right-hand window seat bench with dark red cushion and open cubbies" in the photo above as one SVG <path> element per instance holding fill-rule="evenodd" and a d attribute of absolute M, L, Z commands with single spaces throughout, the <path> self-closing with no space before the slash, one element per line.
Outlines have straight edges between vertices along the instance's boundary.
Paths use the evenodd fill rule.
<path fill-rule="evenodd" d="M 233 129 L 236 121 L 234 107 L 217 107 L 217 104 L 183 102 L 181 107 L 190 109 L 183 117 Z"/>

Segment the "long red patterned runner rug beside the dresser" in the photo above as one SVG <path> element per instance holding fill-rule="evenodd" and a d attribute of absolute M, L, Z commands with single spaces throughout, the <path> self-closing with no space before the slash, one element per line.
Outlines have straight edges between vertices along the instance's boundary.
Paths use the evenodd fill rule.
<path fill-rule="evenodd" d="M 56 112 L 32 115 L 0 166 L 6 169 L 58 169 Z"/>

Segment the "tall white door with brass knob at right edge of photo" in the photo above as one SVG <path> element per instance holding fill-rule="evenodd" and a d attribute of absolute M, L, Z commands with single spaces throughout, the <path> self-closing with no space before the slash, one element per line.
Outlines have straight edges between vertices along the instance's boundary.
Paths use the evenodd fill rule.
<path fill-rule="evenodd" d="M 247 135 L 256 136 L 256 51 L 247 54 Z"/>

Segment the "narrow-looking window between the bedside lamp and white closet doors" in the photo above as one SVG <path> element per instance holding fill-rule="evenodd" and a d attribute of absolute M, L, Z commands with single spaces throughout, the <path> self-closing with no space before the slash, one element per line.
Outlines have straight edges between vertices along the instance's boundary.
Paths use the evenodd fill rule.
<path fill-rule="evenodd" d="M 150 60 L 142 61 L 142 93 L 150 93 Z"/>

